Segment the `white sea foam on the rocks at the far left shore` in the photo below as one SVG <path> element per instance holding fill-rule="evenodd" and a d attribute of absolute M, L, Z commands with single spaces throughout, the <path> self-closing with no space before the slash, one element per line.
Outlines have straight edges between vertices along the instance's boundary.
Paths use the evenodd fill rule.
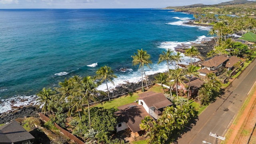
<path fill-rule="evenodd" d="M 33 96 L 14 96 L 12 98 L 1 99 L 0 98 L 0 113 L 7 112 L 8 110 L 14 110 L 14 107 L 27 106 L 30 104 L 36 104 L 38 100 L 36 95 Z"/>

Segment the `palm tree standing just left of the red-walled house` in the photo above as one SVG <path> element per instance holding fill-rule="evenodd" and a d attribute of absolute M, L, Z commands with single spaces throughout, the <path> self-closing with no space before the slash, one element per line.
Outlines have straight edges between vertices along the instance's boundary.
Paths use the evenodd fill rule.
<path fill-rule="evenodd" d="M 178 100 L 178 84 L 184 84 L 183 81 L 187 80 L 187 78 L 184 75 L 185 74 L 182 68 L 170 70 L 170 78 L 173 80 L 174 84 L 176 85 L 177 100 Z"/>

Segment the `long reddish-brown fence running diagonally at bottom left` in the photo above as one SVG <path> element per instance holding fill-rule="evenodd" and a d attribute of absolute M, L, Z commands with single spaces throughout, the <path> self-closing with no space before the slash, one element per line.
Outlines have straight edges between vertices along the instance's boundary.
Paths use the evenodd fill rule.
<path fill-rule="evenodd" d="M 39 113 L 40 118 L 42 118 L 43 120 L 45 120 L 46 122 L 50 120 L 50 118 L 48 118 L 47 116 L 45 116 L 44 114 L 42 114 L 41 112 Z M 65 136 L 67 136 L 68 138 L 70 138 L 71 140 L 74 140 L 77 144 L 84 144 L 84 142 L 82 140 L 80 140 L 79 138 L 77 138 L 76 136 L 74 136 L 73 134 L 71 134 L 70 132 L 64 130 L 63 128 L 61 128 L 58 124 L 56 124 L 54 122 L 54 125 L 56 128 L 58 128 Z"/>

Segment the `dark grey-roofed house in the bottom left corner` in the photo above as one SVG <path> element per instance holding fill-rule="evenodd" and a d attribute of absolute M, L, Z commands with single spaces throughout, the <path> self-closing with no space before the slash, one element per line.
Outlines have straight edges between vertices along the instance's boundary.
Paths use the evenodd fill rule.
<path fill-rule="evenodd" d="M 0 126 L 0 144 L 22 144 L 33 139 L 34 136 L 15 120 Z"/>

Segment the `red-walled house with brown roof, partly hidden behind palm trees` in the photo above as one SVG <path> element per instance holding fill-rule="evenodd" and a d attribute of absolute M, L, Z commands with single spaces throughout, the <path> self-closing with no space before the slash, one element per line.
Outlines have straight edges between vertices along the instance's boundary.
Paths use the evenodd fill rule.
<path fill-rule="evenodd" d="M 206 68 L 207 70 L 207 68 Z M 185 81 L 185 84 L 178 84 L 178 90 L 184 90 L 184 93 L 188 92 L 188 86 L 189 86 L 189 82 Z M 202 87 L 202 85 L 204 84 L 204 82 L 198 78 L 196 78 L 195 76 L 190 77 L 190 92 L 189 92 L 189 96 L 194 96 L 197 94 L 198 90 Z M 176 88 L 176 85 L 174 86 L 174 88 Z"/>

